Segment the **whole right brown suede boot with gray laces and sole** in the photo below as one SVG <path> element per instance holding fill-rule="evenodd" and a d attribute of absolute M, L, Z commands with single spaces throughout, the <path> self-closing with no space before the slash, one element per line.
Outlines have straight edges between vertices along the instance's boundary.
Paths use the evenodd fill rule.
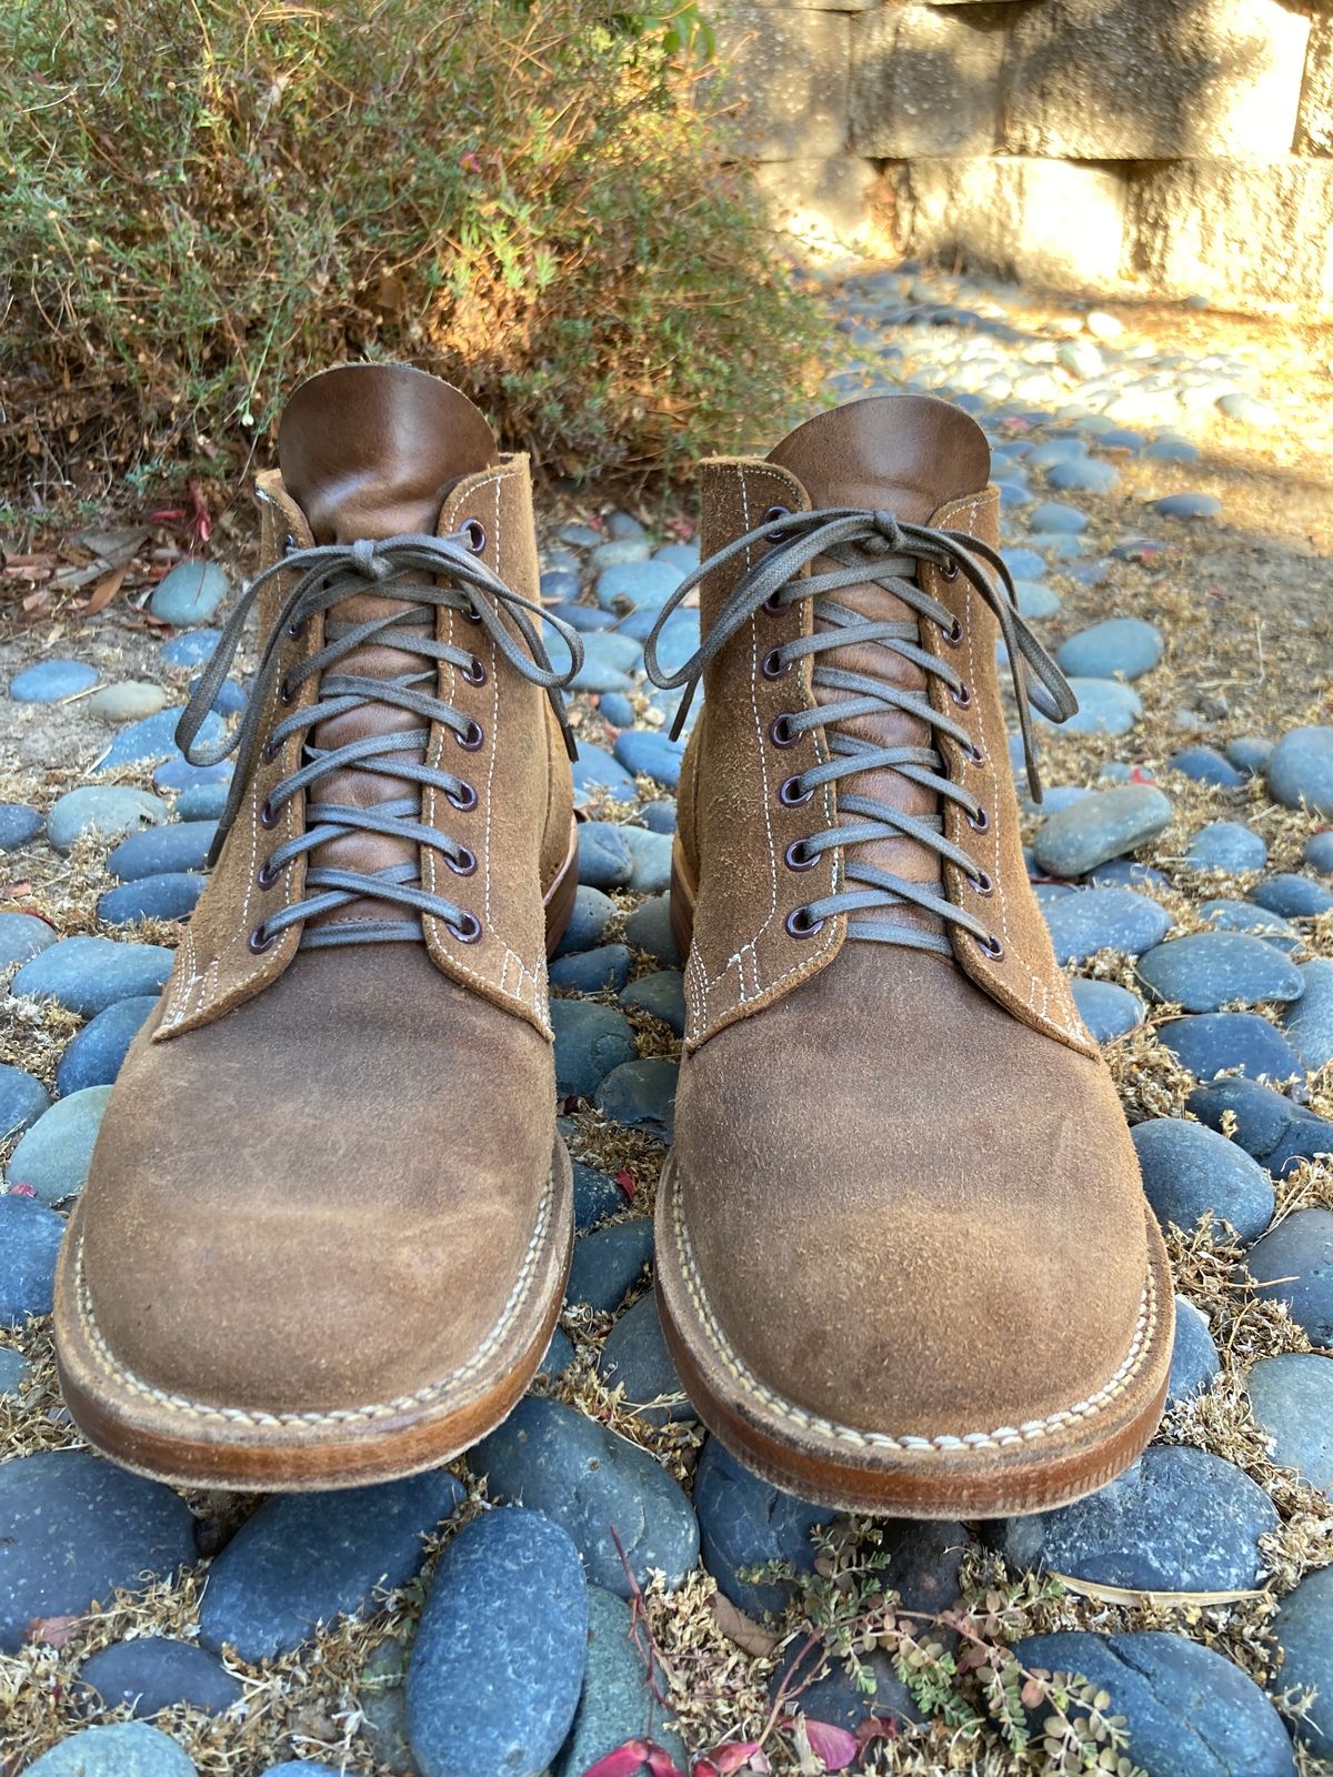
<path fill-rule="evenodd" d="M 1015 613 L 988 474 L 926 396 L 706 464 L 704 643 L 672 677 L 647 650 L 707 693 L 672 885 L 666 1336 L 752 1468 L 919 1518 L 1098 1487 L 1171 1354 L 1134 1146 L 1024 869 L 997 636 L 1029 761 L 1027 698 L 1075 705 Z"/>

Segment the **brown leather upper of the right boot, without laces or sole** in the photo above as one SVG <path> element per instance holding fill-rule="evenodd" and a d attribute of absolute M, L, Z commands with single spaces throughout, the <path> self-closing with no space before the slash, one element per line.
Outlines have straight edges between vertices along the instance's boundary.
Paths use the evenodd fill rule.
<path fill-rule="evenodd" d="M 709 464 L 702 553 L 771 505 L 882 508 L 994 544 L 986 476 L 985 439 L 956 409 L 853 403 L 766 462 Z M 706 633 L 743 567 L 704 583 Z M 681 855 L 697 899 L 675 1162 L 702 1288 L 741 1367 L 835 1423 L 965 1438 L 1059 1413 L 1109 1381 L 1139 1320 L 1148 1235 L 1114 1088 L 1022 864 L 995 620 L 965 576 L 922 569 L 922 581 L 962 622 L 951 663 L 970 702 L 947 707 L 981 762 L 901 713 L 857 732 L 937 745 L 954 777 L 969 773 L 990 825 L 976 833 L 949 805 L 946 830 L 994 890 L 976 894 L 954 865 L 944 883 L 1004 954 L 986 958 L 953 926 L 953 960 L 848 938 L 844 919 L 809 938 L 786 931 L 787 912 L 837 887 L 834 853 L 807 871 L 784 862 L 791 841 L 834 825 L 835 793 L 823 793 L 825 812 L 819 793 L 796 809 L 777 800 L 778 780 L 823 757 L 823 743 L 816 730 L 775 748 L 770 723 L 810 707 L 810 673 L 802 661 L 770 679 L 762 661 L 814 615 L 810 601 L 759 610 L 707 670 L 682 768 Z M 839 601 L 905 615 L 876 586 Z M 930 650 L 947 647 L 921 629 Z M 874 645 L 857 656 L 862 672 L 930 682 L 946 707 L 935 677 Z M 894 771 L 876 773 L 871 794 L 935 810 Z M 878 842 L 876 862 L 940 876 L 912 839 Z"/>

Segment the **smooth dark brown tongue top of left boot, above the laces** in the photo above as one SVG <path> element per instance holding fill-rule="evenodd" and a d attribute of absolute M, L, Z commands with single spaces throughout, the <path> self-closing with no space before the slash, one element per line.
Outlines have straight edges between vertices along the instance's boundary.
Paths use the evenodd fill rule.
<path fill-rule="evenodd" d="M 316 544 L 434 531 L 450 483 L 498 460 L 467 396 L 407 364 L 325 370 L 277 428 L 283 483 Z"/>

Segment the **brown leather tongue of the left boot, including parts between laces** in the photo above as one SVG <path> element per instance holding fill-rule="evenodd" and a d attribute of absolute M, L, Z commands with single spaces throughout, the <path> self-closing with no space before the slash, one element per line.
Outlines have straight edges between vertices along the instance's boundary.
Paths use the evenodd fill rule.
<path fill-rule="evenodd" d="M 316 544 L 434 535 L 450 487 L 498 462 L 491 426 L 467 396 L 405 364 L 325 370 L 297 389 L 277 428 L 283 483 L 306 514 Z M 359 624 L 395 610 L 409 610 L 409 601 L 352 594 L 329 610 L 325 622 Z M 435 682 L 432 659 L 379 641 L 345 654 L 334 672 L 363 679 L 414 675 L 427 689 Z M 419 718 L 407 711 L 368 702 L 316 723 L 309 745 L 332 752 L 368 734 L 418 729 Z M 409 743 L 402 755 L 380 755 L 377 764 L 386 768 L 398 757 L 421 762 L 425 750 Z M 409 800 L 419 810 L 421 791 L 386 769 L 350 768 L 322 778 L 316 800 L 355 809 Z M 371 874 L 395 864 L 419 864 L 418 851 L 414 841 L 352 830 L 316 846 L 309 862 L 318 869 Z M 309 920 L 309 929 L 403 917 L 393 903 L 363 897 Z"/>

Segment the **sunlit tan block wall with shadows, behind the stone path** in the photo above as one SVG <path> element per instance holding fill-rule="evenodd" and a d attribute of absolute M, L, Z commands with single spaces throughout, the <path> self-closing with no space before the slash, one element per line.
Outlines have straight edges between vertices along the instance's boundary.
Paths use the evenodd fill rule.
<path fill-rule="evenodd" d="M 1107 293 L 1333 311 L 1333 0 L 716 0 L 807 235 Z"/>

